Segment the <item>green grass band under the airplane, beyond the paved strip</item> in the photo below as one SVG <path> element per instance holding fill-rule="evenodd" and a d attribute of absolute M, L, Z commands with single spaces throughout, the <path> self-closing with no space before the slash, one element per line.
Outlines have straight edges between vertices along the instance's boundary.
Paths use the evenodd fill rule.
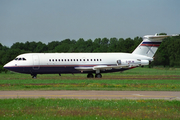
<path fill-rule="evenodd" d="M 87 79 L 86 74 L 30 75 L 1 73 L 0 90 L 146 90 L 179 91 L 179 68 L 135 68 L 122 73 L 102 74 L 101 79 Z"/>

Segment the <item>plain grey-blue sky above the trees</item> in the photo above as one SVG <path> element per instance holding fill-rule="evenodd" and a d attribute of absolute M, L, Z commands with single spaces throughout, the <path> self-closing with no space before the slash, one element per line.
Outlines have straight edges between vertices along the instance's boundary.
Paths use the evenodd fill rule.
<path fill-rule="evenodd" d="M 0 43 L 180 33 L 180 0 L 0 0 Z"/>

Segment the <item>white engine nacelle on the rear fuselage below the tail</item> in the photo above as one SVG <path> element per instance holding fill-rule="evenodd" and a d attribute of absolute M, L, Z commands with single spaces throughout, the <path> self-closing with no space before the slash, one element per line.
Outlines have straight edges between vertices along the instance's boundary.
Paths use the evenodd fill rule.
<path fill-rule="evenodd" d="M 117 60 L 118 66 L 143 66 L 143 65 L 149 65 L 149 60 L 140 60 L 140 59 L 122 59 Z"/>

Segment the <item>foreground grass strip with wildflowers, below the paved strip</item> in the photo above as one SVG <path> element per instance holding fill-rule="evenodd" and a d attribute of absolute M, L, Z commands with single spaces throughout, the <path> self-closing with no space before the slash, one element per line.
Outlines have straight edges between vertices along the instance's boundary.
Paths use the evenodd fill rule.
<path fill-rule="evenodd" d="M 0 119 L 180 119 L 180 101 L 166 100 L 0 100 Z"/>

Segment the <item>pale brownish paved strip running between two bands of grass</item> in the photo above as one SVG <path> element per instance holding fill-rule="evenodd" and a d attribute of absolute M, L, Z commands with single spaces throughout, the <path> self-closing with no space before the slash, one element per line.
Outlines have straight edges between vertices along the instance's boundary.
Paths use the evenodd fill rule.
<path fill-rule="evenodd" d="M 68 98 L 68 99 L 166 99 L 180 100 L 174 91 L 0 91 L 7 98 Z"/>

